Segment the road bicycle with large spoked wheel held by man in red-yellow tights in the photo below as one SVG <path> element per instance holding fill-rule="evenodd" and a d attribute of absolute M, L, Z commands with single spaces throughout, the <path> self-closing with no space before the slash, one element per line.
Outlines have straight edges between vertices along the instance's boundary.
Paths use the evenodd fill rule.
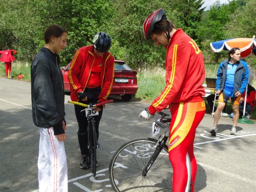
<path fill-rule="evenodd" d="M 159 112 L 161 118 L 153 123 L 152 135 L 159 128 L 167 131 L 153 138 L 134 139 L 124 143 L 114 153 L 109 164 L 109 180 L 116 192 L 172 191 L 173 168 L 166 141 L 169 138 L 171 118 Z M 161 139 L 162 138 L 162 139 Z M 191 164 L 187 154 L 188 181 L 185 192 L 191 191 Z"/>

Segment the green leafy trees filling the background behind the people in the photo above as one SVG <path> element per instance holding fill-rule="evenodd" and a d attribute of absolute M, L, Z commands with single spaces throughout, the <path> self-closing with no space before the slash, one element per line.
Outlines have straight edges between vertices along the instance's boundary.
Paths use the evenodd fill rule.
<path fill-rule="evenodd" d="M 57 24 L 69 35 L 68 47 L 60 54 L 62 65 L 78 48 L 90 45 L 95 33 L 105 31 L 112 38 L 110 52 L 132 68 L 164 67 L 165 49 L 146 41 L 142 33 L 144 20 L 158 8 L 195 39 L 213 64 L 219 64 L 226 53 L 212 54 L 210 42 L 252 37 L 256 31 L 254 0 L 222 5 L 217 1 L 208 11 L 203 0 L 8 0 L 0 4 L 0 50 L 15 49 L 16 59 L 28 62 L 44 46 L 44 30 Z"/>

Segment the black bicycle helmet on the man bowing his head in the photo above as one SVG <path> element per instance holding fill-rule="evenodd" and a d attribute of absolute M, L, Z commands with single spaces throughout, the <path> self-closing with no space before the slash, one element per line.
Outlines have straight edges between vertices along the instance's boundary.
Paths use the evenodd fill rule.
<path fill-rule="evenodd" d="M 111 39 L 105 32 L 97 33 L 93 38 L 94 48 L 101 53 L 108 52 L 111 46 Z"/>

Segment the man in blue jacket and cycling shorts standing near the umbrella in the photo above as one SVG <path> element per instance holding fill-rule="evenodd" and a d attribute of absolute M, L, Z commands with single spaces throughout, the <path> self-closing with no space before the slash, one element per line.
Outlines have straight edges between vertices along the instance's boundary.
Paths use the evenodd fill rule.
<path fill-rule="evenodd" d="M 236 124 L 239 119 L 239 104 L 241 94 L 244 93 L 248 84 L 249 69 L 247 63 L 240 61 L 241 51 L 239 48 L 232 48 L 228 52 L 229 59 L 222 61 L 219 65 L 216 80 L 216 91 L 219 95 L 218 107 L 214 115 L 214 128 L 211 135 L 216 136 L 217 124 L 221 117 L 221 111 L 231 98 L 234 111 L 233 126 L 230 135 L 236 135 Z"/>

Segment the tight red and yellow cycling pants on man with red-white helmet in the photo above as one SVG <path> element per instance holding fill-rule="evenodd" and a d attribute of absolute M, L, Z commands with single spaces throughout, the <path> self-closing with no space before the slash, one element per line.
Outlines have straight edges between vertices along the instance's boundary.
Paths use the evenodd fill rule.
<path fill-rule="evenodd" d="M 205 110 L 204 101 L 171 105 L 172 121 L 168 148 L 169 159 L 173 166 L 173 192 L 185 192 L 188 180 L 187 153 L 191 162 L 191 182 L 194 192 L 197 165 L 193 143 L 196 128 L 203 119 Z"/>

